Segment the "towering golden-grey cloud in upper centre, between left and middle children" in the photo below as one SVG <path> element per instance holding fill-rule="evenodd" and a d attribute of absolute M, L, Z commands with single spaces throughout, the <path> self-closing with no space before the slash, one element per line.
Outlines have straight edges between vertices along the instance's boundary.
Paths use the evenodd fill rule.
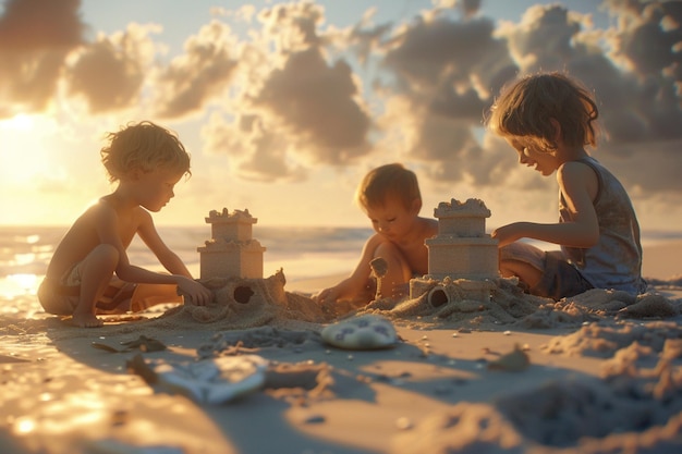
<path fill-rule="evenodd" d="M 349 165 L 369 151 L 361 83 L 344 59 L 328 57 L 321 17 L 310 3 L 258 14 L 263 28 L 243 49 L 224 119 L 203 132 L 205 149 L 228 155 L 241 177 L 304 180 L 315 164 Z"/>

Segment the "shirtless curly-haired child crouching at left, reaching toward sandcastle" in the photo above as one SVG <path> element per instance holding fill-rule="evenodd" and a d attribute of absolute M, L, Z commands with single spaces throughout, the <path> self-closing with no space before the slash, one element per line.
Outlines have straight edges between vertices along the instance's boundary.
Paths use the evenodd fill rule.
<path fill-rule="evenodd" d="M 166 246 L 149 213 L 163 208 L 180 179 L 191 175 L 190 155 L 175 135 L 150 122 L 131 124 L 108 138 L 100 154 L 118 187 L 89 207 L 57 246 L 38 289 L 40 304 L 50 314 L 73 316 L 78 327 L 101 327 L 95 315 L 115 277 L 127 283 L 176 285 L 193 304 L 209 303 L 211 292 Z M 130 263 L 126 248 L 135 234 L 171 274 Z"/>

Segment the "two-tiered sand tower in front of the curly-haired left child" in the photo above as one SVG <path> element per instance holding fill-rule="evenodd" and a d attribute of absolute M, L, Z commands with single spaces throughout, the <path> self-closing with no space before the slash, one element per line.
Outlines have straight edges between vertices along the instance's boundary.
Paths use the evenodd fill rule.
<path fill-rule="evenodd" d="M 265 247 L 252 238 L 253 224 L 258 220 L 248 210 L 227 208 L 209 212 L 206 223 L 211 225 L 211 238 L 197 247 L 200 255 L 200 279 L 246 278 L 263 279 Z"/>

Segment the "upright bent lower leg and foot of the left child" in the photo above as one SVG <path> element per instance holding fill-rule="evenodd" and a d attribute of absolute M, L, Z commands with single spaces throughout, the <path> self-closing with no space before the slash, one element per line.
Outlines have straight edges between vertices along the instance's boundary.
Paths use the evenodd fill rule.
<path fill-rule="evenodd" d="M 84 328 L 101 327 L 95 317 L 96 303 L 109 285 L 119 262 L 119 251 L 111 245 L 100 244 L 81 263 L 81 298 L 73 311 L 73 323 Z"/>

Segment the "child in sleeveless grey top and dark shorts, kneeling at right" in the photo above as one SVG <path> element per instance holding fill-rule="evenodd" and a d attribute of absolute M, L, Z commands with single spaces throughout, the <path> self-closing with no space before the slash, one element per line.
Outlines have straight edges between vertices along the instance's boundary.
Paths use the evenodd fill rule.
<path fill-rule="evenodd" d="M 487 126 L 544 176 L 557 172 L 558 223 L 514 222 L 492 232 L 500 272 L 529 293 L 556 300 L 589 289 L 645 292 L 640 225 L 621 183 L 585 150 L 596 146 L 597 106 L 560 73 L 526 76 L 502 89 Z M 561 246 L 544 251 L 521 238 Z"/>

